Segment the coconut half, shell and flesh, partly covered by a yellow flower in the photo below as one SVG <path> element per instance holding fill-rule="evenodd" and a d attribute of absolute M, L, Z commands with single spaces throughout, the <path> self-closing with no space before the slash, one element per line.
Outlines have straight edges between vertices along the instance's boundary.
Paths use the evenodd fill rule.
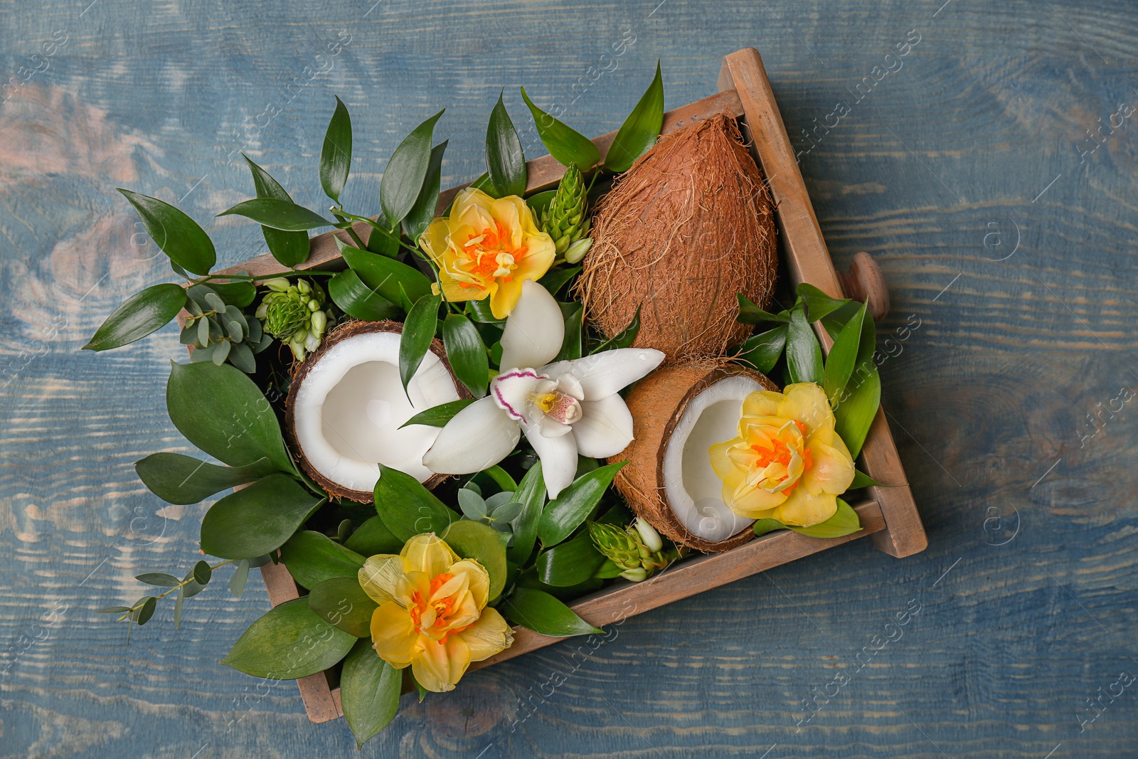
<path fill-rule="evenodd" d="M 736 437 L 743 399 L 778 388 L 723 361 L 666 365 L 628 394 L 635 439 L 609 461 L 628 461 L 616 485 L 637 515 L 673 541 L 726 551 L 753 537 L 754 521 L 723 501 L 708 449 Z"/>

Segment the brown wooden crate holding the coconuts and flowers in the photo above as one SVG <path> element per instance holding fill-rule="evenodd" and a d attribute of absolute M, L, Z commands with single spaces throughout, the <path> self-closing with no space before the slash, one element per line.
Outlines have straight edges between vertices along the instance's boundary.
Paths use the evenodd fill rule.
<path fill-rule="evenodd" d="M 665 114 L 663 132 L 675 131 L 719 113 L 728 113 L 739 118 L 744 134 L 751 141 L 751 152 L 762 167 L 774 197 L 784 266 L 782 271 L 795 284 L 809 282 L 830 296 L 844 297 L 759 52 L 747 48 L 727 56 L 718 84 L 718 94 Z M 616 134 L 610 132 L 593 140 L 602 158 Z M 527 193 L 556 187 L 563 172 L 564 168 L 550 156 L 530 160 Z M 456 187 L 443 192 L 439 208 L 450 205 L 461 189 L 462 187 Z M 356 225 L 356 231 L 364 239 L 370 234 L 370 228 L 362 223 Z M 313 238 L 308 259 L 298 269 L 343 265 L 332 234 L 333 232 L 328 232 Z M 349 241 L 346 236 L 344 239 Z M 247 271 L 256 277 L 267 278 L 284 269 L 266 254 L 225 271 Z M 815 328 L 823 349 L 828 352 L 832 344 L 830 336 L 820 328 L 820 323 Z M 880 482 L 907 481 L 883 410 L 877 411 L 861 448 L 861 468 Z M 597 627 L 609 625 L 866 535 L 873 537 L 879 550 L 892 556 L 908 556 L 923 551 L 927 538 L 909 487 L 872 487 L 868 492 L 871 500 L 855 505 L 863 529 L 852 535 L 819 539 L 791 530 L 780 530 L 725 553 L 688 559 L 644 583 L 618 580 L 603 591 L 574 602 L 572 609 Z M 299 589 L 283 564 L 266 564 L 261 571 L 269 589 L 269 600 L 274 607 L 299 597 Z M 518 627 L 514 628 L 512 646 L 496 657 L 471 665 L 470 669 L 505 661 L 560 640 L 562 638 L 546 637 Z M 312 721 L 324 723 L 343 716 L 339 688 L 330 687 L 324 673 L 300 678 L 297 683 Z"/>

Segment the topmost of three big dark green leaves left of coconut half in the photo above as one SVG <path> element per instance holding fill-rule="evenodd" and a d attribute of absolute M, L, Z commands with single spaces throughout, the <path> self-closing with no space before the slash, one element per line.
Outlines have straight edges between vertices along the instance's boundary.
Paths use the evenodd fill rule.
<path fill-rule="evenodd" d="M 239 369 L 173 364 L 166 409 L 174 427 L 190 443 L 231 467 L 267 457 L 277 469 L 294 471 L 277 414 Z"/>

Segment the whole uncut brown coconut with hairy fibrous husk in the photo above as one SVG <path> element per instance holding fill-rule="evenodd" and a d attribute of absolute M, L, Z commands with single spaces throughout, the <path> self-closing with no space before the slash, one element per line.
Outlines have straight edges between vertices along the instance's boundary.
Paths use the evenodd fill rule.
<path fill-rule="evenodd" d="M 751 330 L 737 292 L 766 308 L 777 246 L 770 191 L 735 119 L 660 138 L 597 204 L 578 294 L 609 337 L 641 308 L 635 347 L 709 358 Z"/>

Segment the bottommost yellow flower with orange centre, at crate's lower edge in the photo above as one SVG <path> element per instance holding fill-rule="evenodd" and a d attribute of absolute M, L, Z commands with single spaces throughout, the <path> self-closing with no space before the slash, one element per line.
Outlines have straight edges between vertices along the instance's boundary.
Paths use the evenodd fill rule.
<path fill-rule="evenodd" d="M 486 607 L 486 569 L 434 533 L 415 535 L 397 556 L 369 558 L 360 585 L 379 604 L 371 617 L 376 653 L 396 669 L 410 666 L 428 691 L 454 690 L 471 661 L 513 643 L 513 628 Z"/>

